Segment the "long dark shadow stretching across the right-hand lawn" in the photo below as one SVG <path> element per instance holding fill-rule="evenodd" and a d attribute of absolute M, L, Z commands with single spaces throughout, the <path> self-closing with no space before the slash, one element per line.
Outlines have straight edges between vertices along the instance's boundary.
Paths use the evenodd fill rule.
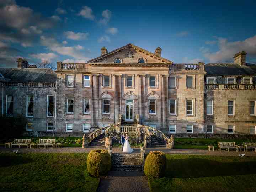
<path fill-rule="evenodd" d="M 167 159 L 165 176 L 173 178 L 214 177 L 256 173 L 256 161 L 220 162 L 207 159 Z"/>

